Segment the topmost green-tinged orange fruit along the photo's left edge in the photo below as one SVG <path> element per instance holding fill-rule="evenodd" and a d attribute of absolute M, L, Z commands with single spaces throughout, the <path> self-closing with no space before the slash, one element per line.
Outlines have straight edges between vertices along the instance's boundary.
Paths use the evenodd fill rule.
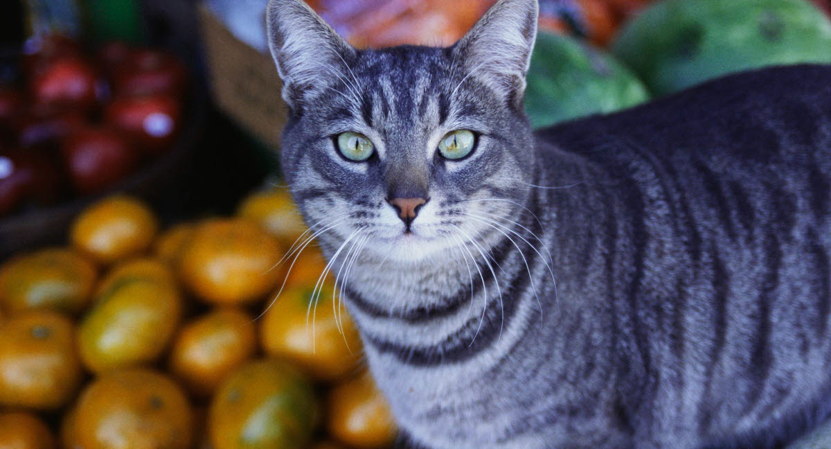
<path fill-rule="evenodd" d="M 0 300 L 8 311 L 48 308 L 77 313 L 86 307 L 96 267 L 71 249 L 22 254 L 0 268 Z"/>

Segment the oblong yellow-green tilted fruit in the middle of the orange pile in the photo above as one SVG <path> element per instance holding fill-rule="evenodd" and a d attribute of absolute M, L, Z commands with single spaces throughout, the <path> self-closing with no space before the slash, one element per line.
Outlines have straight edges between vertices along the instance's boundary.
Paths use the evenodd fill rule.
<path fill-rule="evenodd" d="M 179 292 L 166 281 L 127 279 L 107 289 L 78 326 L 78 353 L 101 373 L 160 358 L 182 314 Z"/>

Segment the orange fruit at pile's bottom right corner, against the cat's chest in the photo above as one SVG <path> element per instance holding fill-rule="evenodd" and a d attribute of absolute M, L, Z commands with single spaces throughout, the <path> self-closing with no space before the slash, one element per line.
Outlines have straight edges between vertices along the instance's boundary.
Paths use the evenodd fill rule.
<path fill-rule="evenodd" d="M 389 447 L 396 438 L 390 406 L 368 372 L 333 387 L 326 428 L 352 447 Z"/>

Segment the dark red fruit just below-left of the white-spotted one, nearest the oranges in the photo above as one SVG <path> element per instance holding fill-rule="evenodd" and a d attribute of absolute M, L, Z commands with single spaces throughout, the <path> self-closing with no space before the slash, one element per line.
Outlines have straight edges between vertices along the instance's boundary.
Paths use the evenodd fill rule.
<path fill-rule="evenodd" d="M 136 165 L 135 151 L 110 128 L 86 128 L 68 136 L 61 146 L 76 190 L 91 194 L 115 185 Z"/>

